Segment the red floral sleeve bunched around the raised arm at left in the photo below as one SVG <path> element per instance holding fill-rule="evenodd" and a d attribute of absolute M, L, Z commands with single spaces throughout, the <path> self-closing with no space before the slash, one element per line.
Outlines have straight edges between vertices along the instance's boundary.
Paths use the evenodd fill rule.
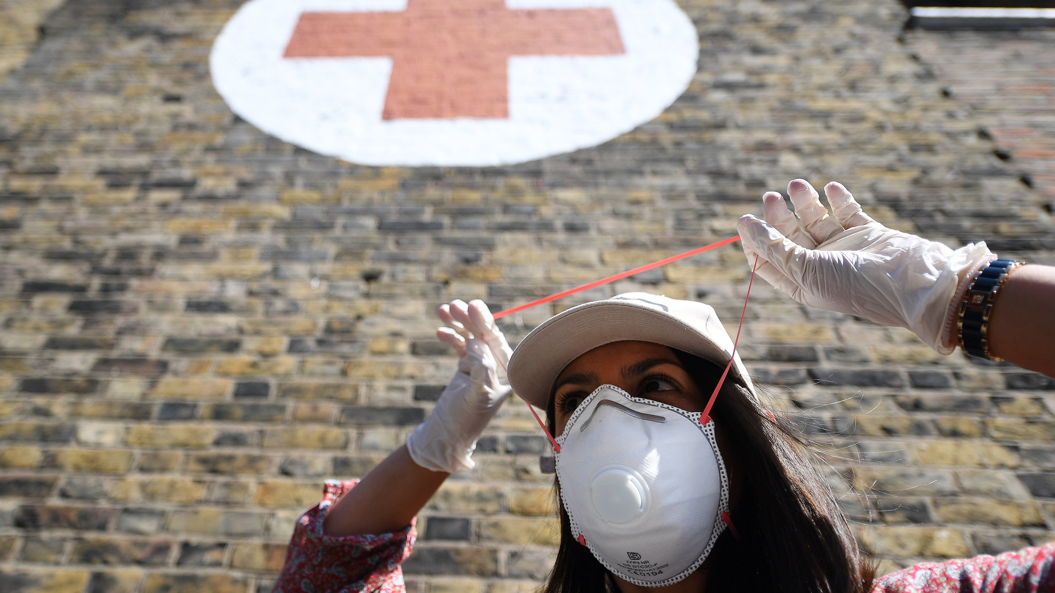
<path fill-rule="evenodd" d="M 296 520 L 286 564 L 272 593 L 405 593 L 400 565 L 418 534 L 415 520 L 402 531 L 377 535 L 323 535 L 330 507 L 359 480 L 327 480 L 323 499 Z"/>

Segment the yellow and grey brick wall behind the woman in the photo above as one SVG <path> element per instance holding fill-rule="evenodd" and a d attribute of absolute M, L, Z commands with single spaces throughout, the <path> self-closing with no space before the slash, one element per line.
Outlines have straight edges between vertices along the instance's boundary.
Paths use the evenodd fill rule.
<path fill-rule="evenodd" d="M 233 117 L 207 56 L 237 5 L 70 0 L 0 85 L 4 591 L 266 592 L 322 480 L 368 471 L 453 372 L 437 304 L 512 305 L 728 237 L 792 177 L 1055 263 L 1051 196 L 939 79 L 941 39 L 899 40 L 893 0 L 685 2 L 699 72 L 663 116 L 501 169 L 356 166 Z M 626 290 L 731 324 L 745 272 L 733 245 L 505 330 Z M 1055 381 L 765 285 L 745 332 L 884 568 L 1055 537 Z M 422 513 L 413 591 L 535 587 L 544 451 L 512 402 Z"/>

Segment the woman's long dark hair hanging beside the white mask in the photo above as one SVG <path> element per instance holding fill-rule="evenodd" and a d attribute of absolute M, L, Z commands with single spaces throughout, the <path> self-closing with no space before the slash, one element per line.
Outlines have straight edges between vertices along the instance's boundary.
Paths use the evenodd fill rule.
<path fill-rule="evenodd" d="M 723 369 L 674 351 L 702 392 L 717 384 Z M 545 410 L 556 429 L 554 398 Z M 744 486 L 730 530 L 704 565 L 707 589 L 745 593 L 867 593 L 875 562 L 858 548 L 835 494 L 816 468 L 814 454 L 788 421 L 754 403 L 744 382 L 730 375 L 711 416 L 735 449 Z M 560 485 L 556 485 L 559 489 Z M 560 548 L 543 593 L 611 593 L 615 578 L 572 536 L 558 496 Z"/>

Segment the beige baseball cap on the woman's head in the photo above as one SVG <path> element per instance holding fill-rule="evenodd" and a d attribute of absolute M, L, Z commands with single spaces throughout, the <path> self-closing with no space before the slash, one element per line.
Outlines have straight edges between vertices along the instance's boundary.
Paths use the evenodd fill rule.
<path fill-rule="evenodd" d="M 722 368 L 732 355 L 732 339 L 711 305 L 649 293 L 624 293 L 573 307 L 535 328 L 513 351 L 510 384 L 517 395 L 544 409 L 564 367 L 599 345 L 624 340 L 669 345 Z M 738 354 L 730 374 L 738 375 L 754 393 Z"/>

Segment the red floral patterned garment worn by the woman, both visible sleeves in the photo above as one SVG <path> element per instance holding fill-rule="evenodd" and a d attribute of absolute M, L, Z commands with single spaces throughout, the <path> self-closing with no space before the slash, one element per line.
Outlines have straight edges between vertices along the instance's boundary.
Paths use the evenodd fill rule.
<path fill-rule="evenodd" d="M 405 593 L 400 565 L 414 522 L 380 535 L 323 535 L 323 519 L 359 480 L 327 481 L 323 500 L 301 515 L 272 593 Z M 921 562 L 877 580 L 871 593 L 1055 593 L 1055 541 L 998 556 Z"/>

